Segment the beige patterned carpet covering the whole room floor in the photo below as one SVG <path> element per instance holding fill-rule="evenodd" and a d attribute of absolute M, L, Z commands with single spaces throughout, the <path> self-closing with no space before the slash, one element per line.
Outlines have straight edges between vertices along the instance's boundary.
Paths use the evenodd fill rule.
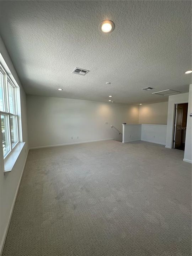
<path fill-rule="evenodd" d="M 104 141 L 29 151 L 3 256 L 191 256 L 183 151 Z"/>

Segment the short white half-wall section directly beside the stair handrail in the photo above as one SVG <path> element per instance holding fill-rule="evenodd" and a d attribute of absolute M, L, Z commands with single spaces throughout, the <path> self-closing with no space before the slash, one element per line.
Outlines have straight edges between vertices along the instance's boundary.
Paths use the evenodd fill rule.
<path fill-rule="evenodd" d="M 141 139 L 141 124 L 123 124 L 123 143 Z"/>

